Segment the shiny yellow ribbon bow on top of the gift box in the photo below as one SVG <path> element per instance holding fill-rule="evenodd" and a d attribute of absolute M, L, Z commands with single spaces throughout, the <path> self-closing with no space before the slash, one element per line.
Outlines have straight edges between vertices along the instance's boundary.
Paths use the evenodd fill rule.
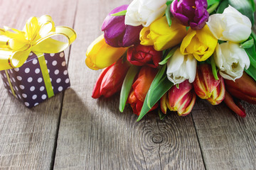
<path fill-rule="evenodd" d="M 68 42 L 50 38 L 64 35 Z M 30 52 L 58 53 L 76 38 L 75 31 L 65 26 L 54 26 L 50 16 L 28 19 L 23 30 L 0 28 L 0 70 L 21 67 Z"/>

